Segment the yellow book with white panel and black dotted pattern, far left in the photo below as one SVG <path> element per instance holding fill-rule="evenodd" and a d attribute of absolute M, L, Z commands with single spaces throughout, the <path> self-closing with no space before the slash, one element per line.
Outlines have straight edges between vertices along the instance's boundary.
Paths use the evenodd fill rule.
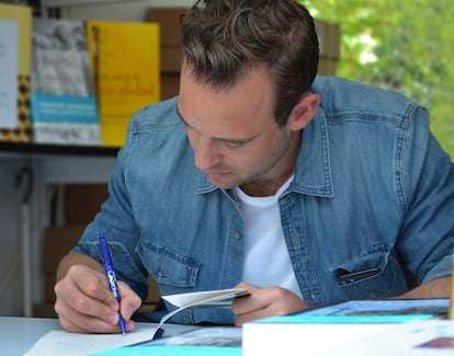
<path fill-rule="evenodd" d="M 32 8 L 0 3 L 0 140 L 31 141 Z"/>

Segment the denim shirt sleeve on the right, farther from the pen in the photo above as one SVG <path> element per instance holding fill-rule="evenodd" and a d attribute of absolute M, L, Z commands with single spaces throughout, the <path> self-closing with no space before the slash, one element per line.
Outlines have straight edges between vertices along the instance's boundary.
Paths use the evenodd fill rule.
<path fill-rule="evenodd" d="M 451 275 L 454 166 L 415 105 L 396 145 L 396 186 L 404 210 L 399 252 L 416 284 Z"/>

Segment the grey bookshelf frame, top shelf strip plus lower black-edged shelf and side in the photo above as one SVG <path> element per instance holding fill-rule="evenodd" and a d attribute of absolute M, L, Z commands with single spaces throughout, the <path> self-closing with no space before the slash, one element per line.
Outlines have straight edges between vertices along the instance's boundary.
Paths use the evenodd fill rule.
<path fill-rule="evenodd" d="M 41 0 L 41 13 L 68 20 L 143 21 L 150 7 L 192 3 L 192 0 Z M 43 228 L 49 222 L 49 192 L 64 184 L 106 183 L 117 152 L 116 147 L 0 141 L 0 226 L 3 227 L 0 314 L 30 315 L 31 305 L 43 301 L 42 242 Z M 29 186 L 31 195 L 25 199 Z M 21 240 L 25 230 L 29 248 Z"/>

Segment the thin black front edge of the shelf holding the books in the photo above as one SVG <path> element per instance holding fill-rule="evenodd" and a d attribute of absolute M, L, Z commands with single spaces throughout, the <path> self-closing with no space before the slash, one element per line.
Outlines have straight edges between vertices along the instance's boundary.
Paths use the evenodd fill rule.
<path fill-rule="evenodd" d="M 117 147 L 65 146 L 0 141 L 0 154 L 116 157 Z"/>

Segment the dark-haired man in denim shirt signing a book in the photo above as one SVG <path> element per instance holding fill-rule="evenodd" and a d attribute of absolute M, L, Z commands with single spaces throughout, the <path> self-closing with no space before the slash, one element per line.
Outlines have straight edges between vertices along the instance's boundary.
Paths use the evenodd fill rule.
<path fill-rule="evenodd" d="M 133 117 L 110 197 L 59 265 L 61 325 L 118 332 L 120 310 L 134 330 L 148 275 L 162 295 L 251 292 L 231 310 L 182 311 L 182 323 L 447 297 L 454 169 L 428 113 L 397 93 L 315 80 L 314 22 L 293 0 L 198 2 L 183 23 L 179 97 Z"/>

